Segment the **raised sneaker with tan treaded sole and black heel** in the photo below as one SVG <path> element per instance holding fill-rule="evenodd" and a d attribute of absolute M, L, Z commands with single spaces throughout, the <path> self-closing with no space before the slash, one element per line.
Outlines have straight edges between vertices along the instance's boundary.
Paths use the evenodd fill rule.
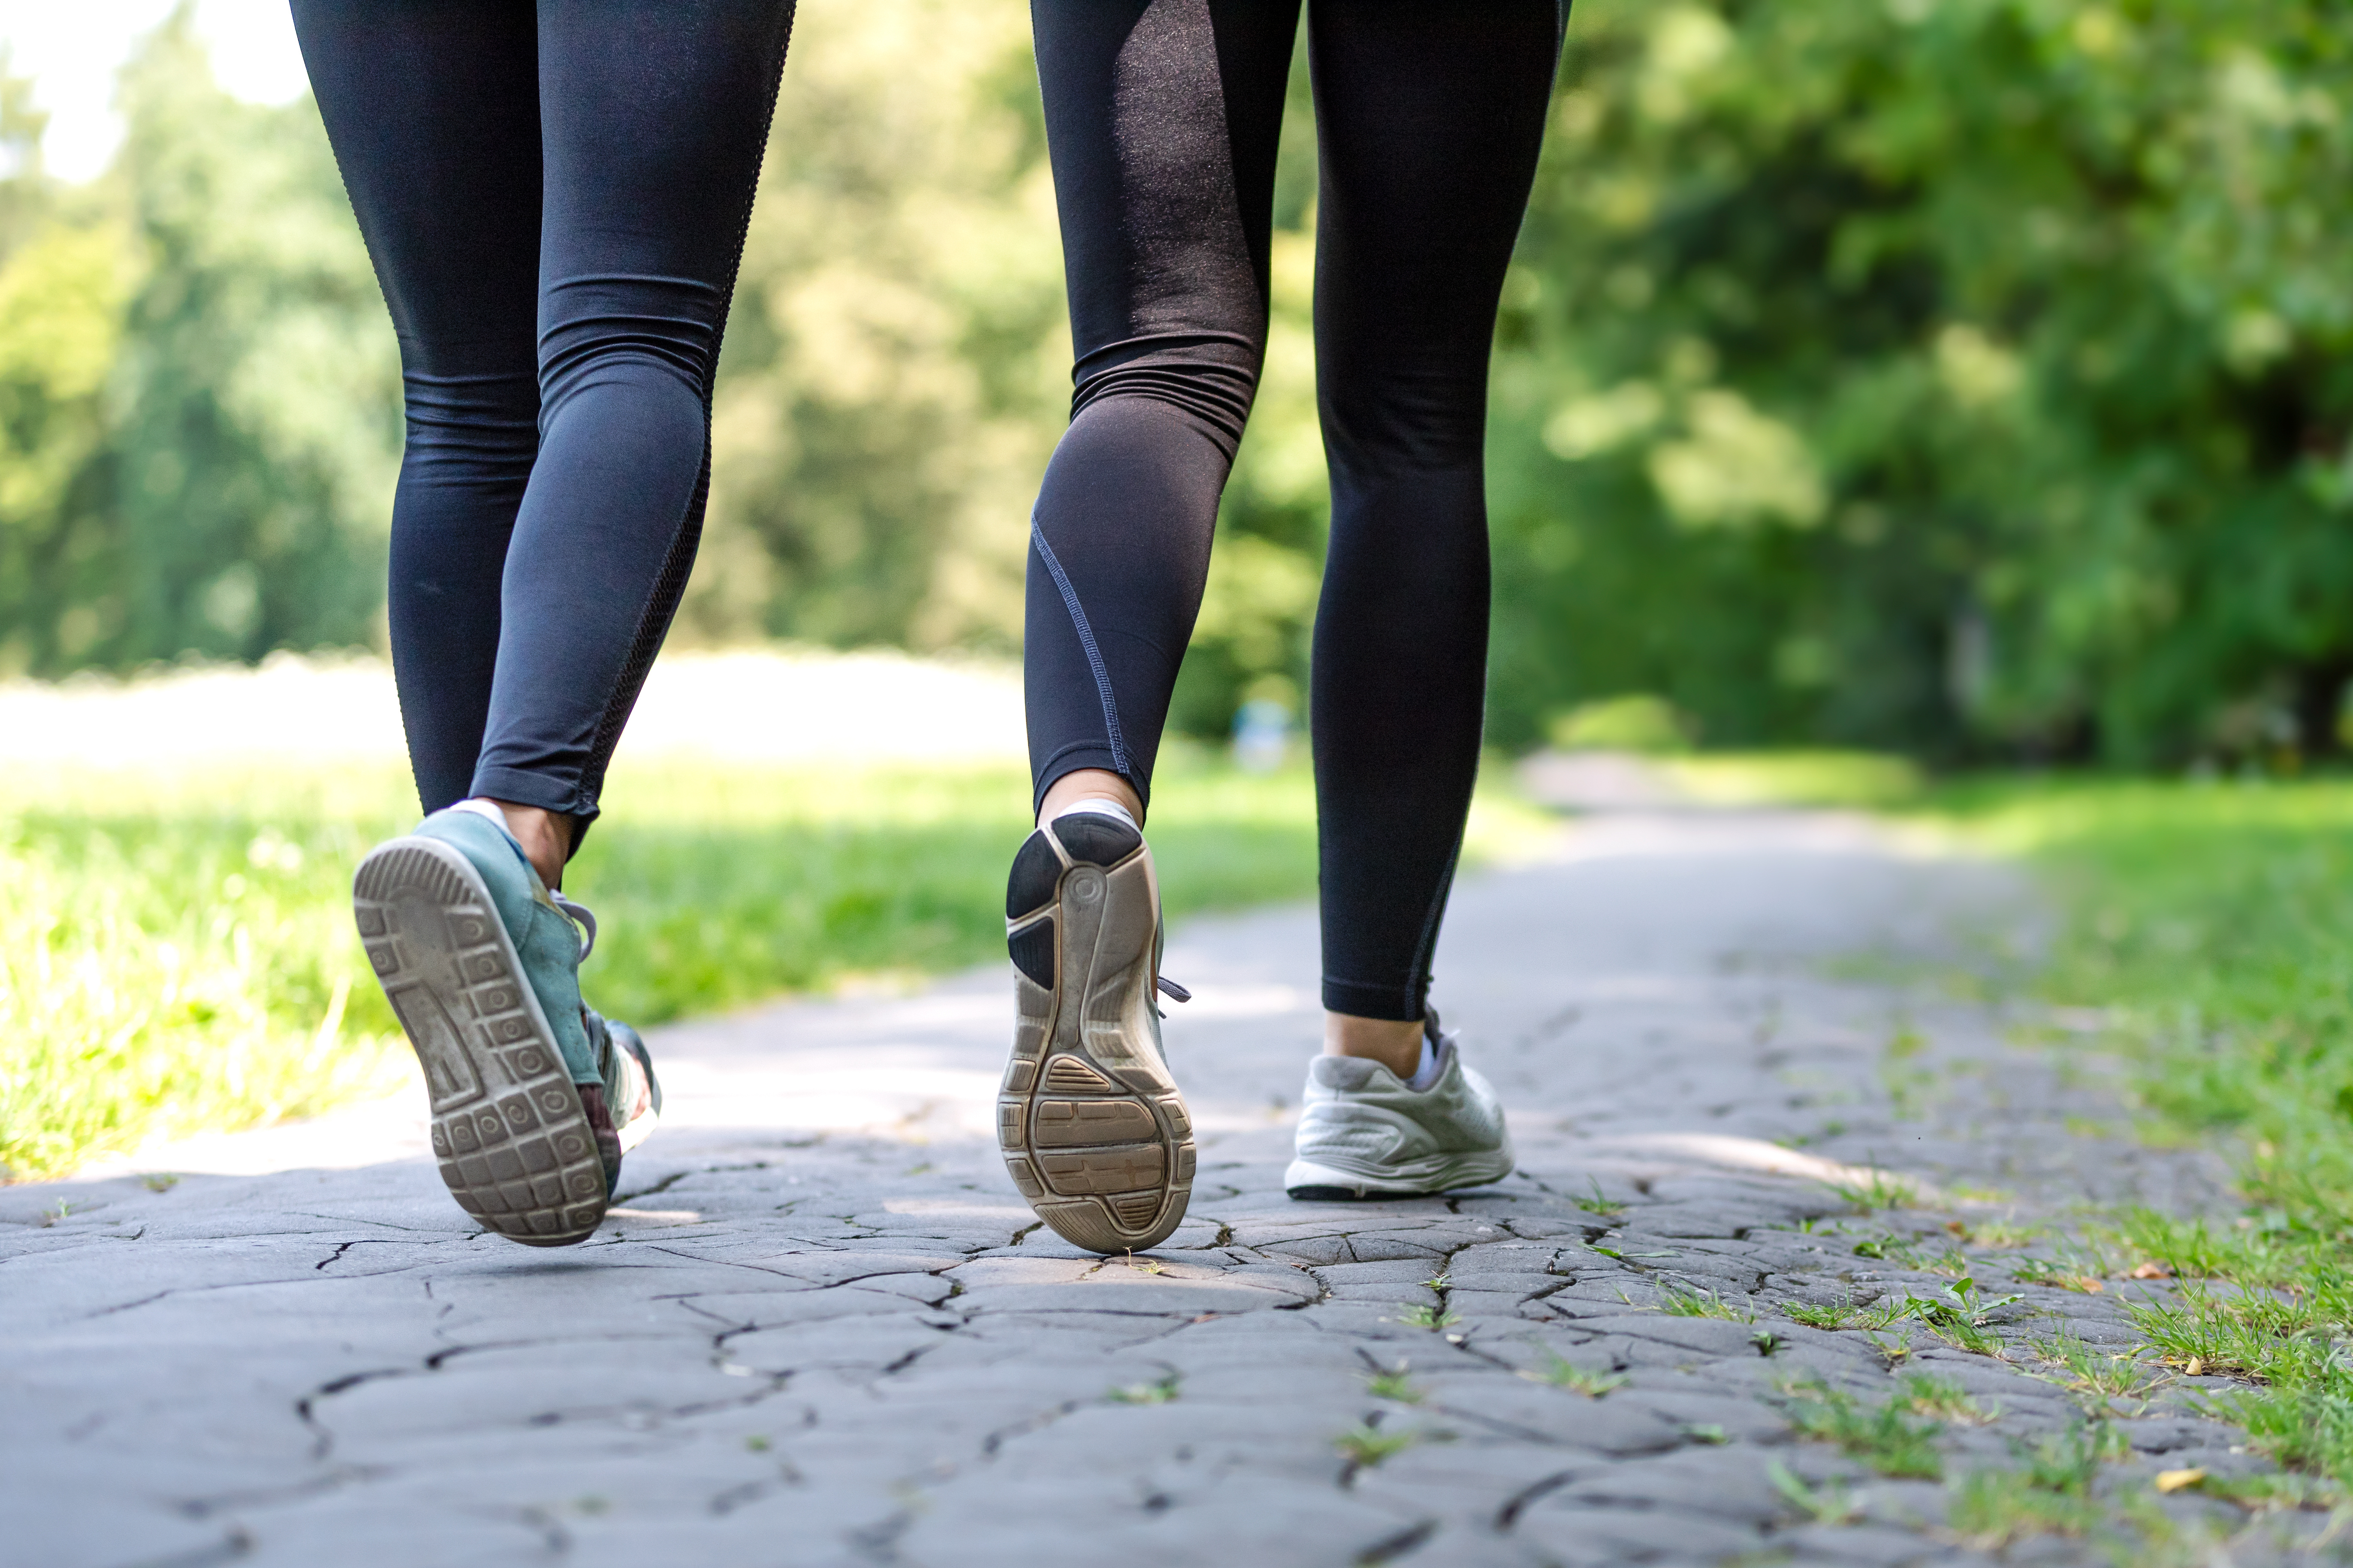
<path fill-rule="evenodd" d="M 1160 884 L 1127 823 L 1038 827 L 1005 889 L 1014 1053 L 998 1143 L 1054 1234 L 1096 1253 L 1155 1246 L 1193 1197 L 1193 1119 L 1160 1056 Z"/>

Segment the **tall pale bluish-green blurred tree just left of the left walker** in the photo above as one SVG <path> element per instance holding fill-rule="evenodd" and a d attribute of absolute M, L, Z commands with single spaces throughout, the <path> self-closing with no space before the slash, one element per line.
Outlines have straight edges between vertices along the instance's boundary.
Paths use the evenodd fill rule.
<path fill-rule="evenodd" d="M 96 656 L 381 642 L 400 360 L 308 99 L 224 94 L 191 7 L 122 71 L 139 261 L 111 421 Z"/>

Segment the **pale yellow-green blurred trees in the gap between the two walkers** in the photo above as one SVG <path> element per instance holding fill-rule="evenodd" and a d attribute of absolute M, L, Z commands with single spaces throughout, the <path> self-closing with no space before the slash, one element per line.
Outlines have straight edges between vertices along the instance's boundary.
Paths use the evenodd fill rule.
<path fill-rule="evenodd" d="M 1026 7 L 802 5 L 680 635 L 1019 646 L 1068 369 Z"/>

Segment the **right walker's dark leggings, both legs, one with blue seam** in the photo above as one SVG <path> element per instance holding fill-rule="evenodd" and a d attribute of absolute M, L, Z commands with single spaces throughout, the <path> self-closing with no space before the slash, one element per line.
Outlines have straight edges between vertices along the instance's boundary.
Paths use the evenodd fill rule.
<path fill-rule="evenodd" d="M 1266 343 L 1299 0 L 1033 0 L 1071 430 L 1031 527 L 1031 771 L 1151 797 Z M 1322 1001 L 1421 1018 L 1478 773 L 1497 296 L 1558 0 L 1315 0 L 1315 374 L 1332 543 L 1311 736 Z"/>

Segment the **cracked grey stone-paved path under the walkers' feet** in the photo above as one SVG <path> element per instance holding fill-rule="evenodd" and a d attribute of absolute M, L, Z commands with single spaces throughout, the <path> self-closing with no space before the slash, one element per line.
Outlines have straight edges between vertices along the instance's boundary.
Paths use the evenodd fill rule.
<path fill-rule="evenodd" d="M 1169 1056 L 1200 1185 L 1139 1258 L 1075 1253 L 1007 1185 L 998 976 L 661 1032 L 671 1124 L 565 1253 L 471 1232 L 407 1112 L 195 1161 L 308 1168 L 0 1190 L 0 1561 L 1986 1561 L 1948 1486 L 1795 1436 L 1805 1380 L 1873 1408 L 1944 1378 L 1998 1408 L 1946 1422 L 1946 1474 L 2014 1467 L 2094 1399 L 2026 1340 L 2129 1347 L 2120 1295 L 2162 1286 L 2021 1284 L 2007 1361 L 1906 1324 L 1894 1371 L 1786 1307 L 1934 1298 L 1906 1262 L 1948 1220 L 2226 1201 L 2198 1157 L 2087 1133 L 2115 1119 L 2092 1067 L 1918 980 L 2031 919 L 2009 875 L 1861 823 L 1581 825 L 1466 879 L 1440 957 L 1522 1171 L 1362 1206 L 1278 1185 L 1313 914 L 1198 922 L 1167 971 L 1198 994 Z M 1932 1194 L 1859 1211 L 1857 1166 Z M 1969 1253 L 1984 1295 L 2019 1255 Z M 2320 1533 L 2158 1497 L 2257 1465 L 2179 1387 L 2108 1413 L 2106 1495 L 2242 1563 Z"/>

